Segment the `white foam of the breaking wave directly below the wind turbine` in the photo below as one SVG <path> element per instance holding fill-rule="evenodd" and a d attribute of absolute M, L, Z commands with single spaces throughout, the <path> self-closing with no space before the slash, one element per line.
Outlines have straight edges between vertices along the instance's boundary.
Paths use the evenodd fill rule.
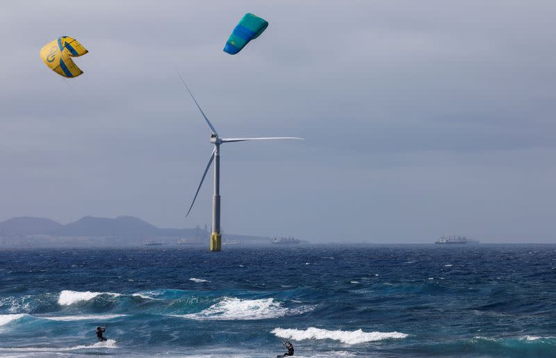
<path fill-rule="evenodd" d="M 242 300 L 240 298 L 225 297 L 222 301 L 196 314 L 172 316 L 194 320 L 263 320 L 286 316 L 286 314 L 303 314 L 312 309 L 314 307 L 288 309 L 282 307 L 282 304 L 276 302 L 273 298 Z"/>

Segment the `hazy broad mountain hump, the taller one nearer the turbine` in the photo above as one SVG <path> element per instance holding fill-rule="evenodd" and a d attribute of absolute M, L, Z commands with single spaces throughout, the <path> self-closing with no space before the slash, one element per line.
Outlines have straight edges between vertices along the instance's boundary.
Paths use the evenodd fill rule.
<path fill-rule="evenodd" d="M 158 234 L 158 228 L 133 216 L 94 218 L 85 216 L 76 222 L 64 225 L 54 231 L 58 236 L 118 236 L 133 238 Z"/>

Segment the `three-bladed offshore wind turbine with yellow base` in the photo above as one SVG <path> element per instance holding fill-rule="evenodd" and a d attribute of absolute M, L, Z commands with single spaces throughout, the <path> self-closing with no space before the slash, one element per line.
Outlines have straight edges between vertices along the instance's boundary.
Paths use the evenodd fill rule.
<path fill-rule="evenodd" d="M 201 182 L 197 187 L 197 191 L 195 192 L 195 197 L 193 197 L 193 202 L 191 202 L 191 206 L 189 206 L 189 210 L 186 216 L 188 216 L 189 213 L 191 212 L 191 209 L 193 209 L 193 204 L 195 204 L 195 200 L 197 199 L 199 190 L 203 185 L 203 181 L 204 178 L 206 177 L 206 173 L 208 172 L 208 169 L 211 168 L 211 164 L 214 161 L 213 229 L 211 233 L 211 251 L 220 251 L 222 250 L 222 234 L 220 234 L 220 145 L 222 143 L 245 142 L 246 140 L 267 140 L 267 139 L 303 140 L 303 138 L 297 138 L 297 137 L 222 138 L 220 137 L 220 135 L 218 135 L 218 132 L 213 127 L 213 124 L 211 123 L 211 121 L 208 120 L 208 118 L 204 114 L 203 110 L 201 109 L 201 106 L 199 106 L 199 104 L 195 100 L 195 97 L 193 97 L 193 93 L 191 93 L 188 86 L 186 85 L 186 81 L 183 81 L 181 74 L 179 74 L 179 78 L 181 79 L 183 86 L 186 86 L 187 92 L 189 92 L 189 95 L 197 105 L 197 108 L 199 108 L 199 111 L 201 111 L 201 114 L 203 115 L 206 124 L 208 124 L 208 127 L 211 129 L 210 141 L 214 145 L 213 152 L 210 158 L 208 158 L 208 164 L 206 165 L 203 176 L 201 178 Z"/>

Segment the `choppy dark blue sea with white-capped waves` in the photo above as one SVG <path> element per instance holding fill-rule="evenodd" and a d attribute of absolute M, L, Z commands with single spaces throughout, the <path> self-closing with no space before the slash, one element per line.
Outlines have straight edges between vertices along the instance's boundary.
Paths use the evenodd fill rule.
<path fill-rule="evenodd" d="M 0 251 L 0 356 L 276 357 L 281 338 L 298 357 L 556 357 L 556 245 Z"/>

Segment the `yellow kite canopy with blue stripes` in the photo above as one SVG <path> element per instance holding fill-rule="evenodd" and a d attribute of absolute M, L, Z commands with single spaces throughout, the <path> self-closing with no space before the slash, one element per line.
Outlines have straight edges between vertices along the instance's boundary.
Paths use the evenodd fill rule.
<path fill-rule="evenodd" d="M 60 76 L 77 77 L 83 73 L 74 63 L 72 57 L 79 57 L 88 53 L 77 40 L 69 36 L 62 36 L 45 44 L 40 49 L 42 61 Z"/>

